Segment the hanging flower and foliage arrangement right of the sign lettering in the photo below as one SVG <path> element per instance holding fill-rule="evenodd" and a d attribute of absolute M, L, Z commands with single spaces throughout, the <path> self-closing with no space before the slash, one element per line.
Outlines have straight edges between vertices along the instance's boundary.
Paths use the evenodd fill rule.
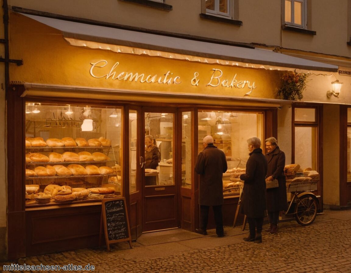
<path fill-rule="evenodd" d="M 303 98 L 303 91 L 306 88 L 308 75 L 287 71 L 282 75 L 282 85 L 278 90 L 278 96 L 284 100 L 300 100 Z"/>

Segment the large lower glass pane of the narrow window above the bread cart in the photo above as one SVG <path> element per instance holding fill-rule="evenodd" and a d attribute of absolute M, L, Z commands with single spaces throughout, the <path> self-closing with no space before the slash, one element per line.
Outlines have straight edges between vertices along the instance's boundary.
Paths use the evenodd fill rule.
<path fill-rule="evenodd" d="M 295 127 L 295 163 L 317 171 L 317 127 Z"/>

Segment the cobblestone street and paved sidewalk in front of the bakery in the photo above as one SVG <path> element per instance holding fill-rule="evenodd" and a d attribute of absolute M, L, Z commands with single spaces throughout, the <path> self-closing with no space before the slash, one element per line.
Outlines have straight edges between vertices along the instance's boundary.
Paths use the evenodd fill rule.
<path fill-rule="evenodd" d="M 266 226 L 265 226 L 266 227 Z M 38 255 L 3 265 L 94 265 L 95 270 L 69 272 L 133 273 L 274 273 L 274 272 L 351 272 L 351 210 L 325 211 L 310 226 L 296 221 L 280 224 L 278 234 L 263 232 L 263 243 L 244 242 L 247 230 L 226 227 L 227 235 L 217 238 L 214 231 L 206 237 L 142 245 L 127 242 L 105 248 L 78 249 Z M 156 234 L 156 233 L 154 233 Z M 190 233 L 194 234 L 194 233 Z M 144 235 L 143 235 L 144 236 Z M 167 237 L 165 237 L 167 238 Z M 67 272 L 67 271 L 3 271 Z"/>

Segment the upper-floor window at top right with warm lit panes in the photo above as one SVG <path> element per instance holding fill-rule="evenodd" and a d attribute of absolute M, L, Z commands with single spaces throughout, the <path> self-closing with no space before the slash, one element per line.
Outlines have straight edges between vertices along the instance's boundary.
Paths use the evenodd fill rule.
<path fill-rule="evenodd" d="M 307 0 L 285 0 L 285 24 L 307 27 Z"/>

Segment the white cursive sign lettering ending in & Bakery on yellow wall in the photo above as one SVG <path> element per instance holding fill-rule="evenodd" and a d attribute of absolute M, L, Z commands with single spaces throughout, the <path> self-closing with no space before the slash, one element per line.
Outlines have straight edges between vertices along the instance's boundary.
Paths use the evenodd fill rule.
<path fill-rule="evenodd" d="M 165 84 L 165 85 L 178 85 L 181 84 L 181 78 L 179 75 L 174 75 L 173 72 L 167 71 L 165 74 L 147 74 L 139 72 L 127 72 L 118 71 L 119 62 L 115 62 L 112 66 L 108 66 L 108 61 L 100 60 L 97 62 L 90 63 L 90 75 L 94 78 L 106 80 L 120 80 L 130 82 L 140 82 L 141 84 Z M 211 87 L 225 87 L 225 88 L 248 88 L 249 93 L 252 92 L 257 86 L 255 82 L 249 80 L 238 80 L 238 75 L 234 74 L 227 77 L 223 74 L 221 69 L 213 68 L 207 75 L 206 80 L 200 78 L 198 72 L 193 73 L 193 77 L 190 81 L 192 86 L 203 85 Z"/>

